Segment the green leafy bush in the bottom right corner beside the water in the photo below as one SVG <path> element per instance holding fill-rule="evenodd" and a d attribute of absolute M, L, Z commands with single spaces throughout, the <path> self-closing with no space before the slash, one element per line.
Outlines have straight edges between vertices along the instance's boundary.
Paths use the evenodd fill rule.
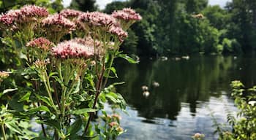
<path fill-rule="evenodd" d="M 246 89 L 240 81 L 233 81 L 231 86 L 238 112 L 235 116 L 227 109 L 227 120 L 233 130 L 227 131 L 218 125 L 219 139 L 256 139 L 256 87 Z"/>

